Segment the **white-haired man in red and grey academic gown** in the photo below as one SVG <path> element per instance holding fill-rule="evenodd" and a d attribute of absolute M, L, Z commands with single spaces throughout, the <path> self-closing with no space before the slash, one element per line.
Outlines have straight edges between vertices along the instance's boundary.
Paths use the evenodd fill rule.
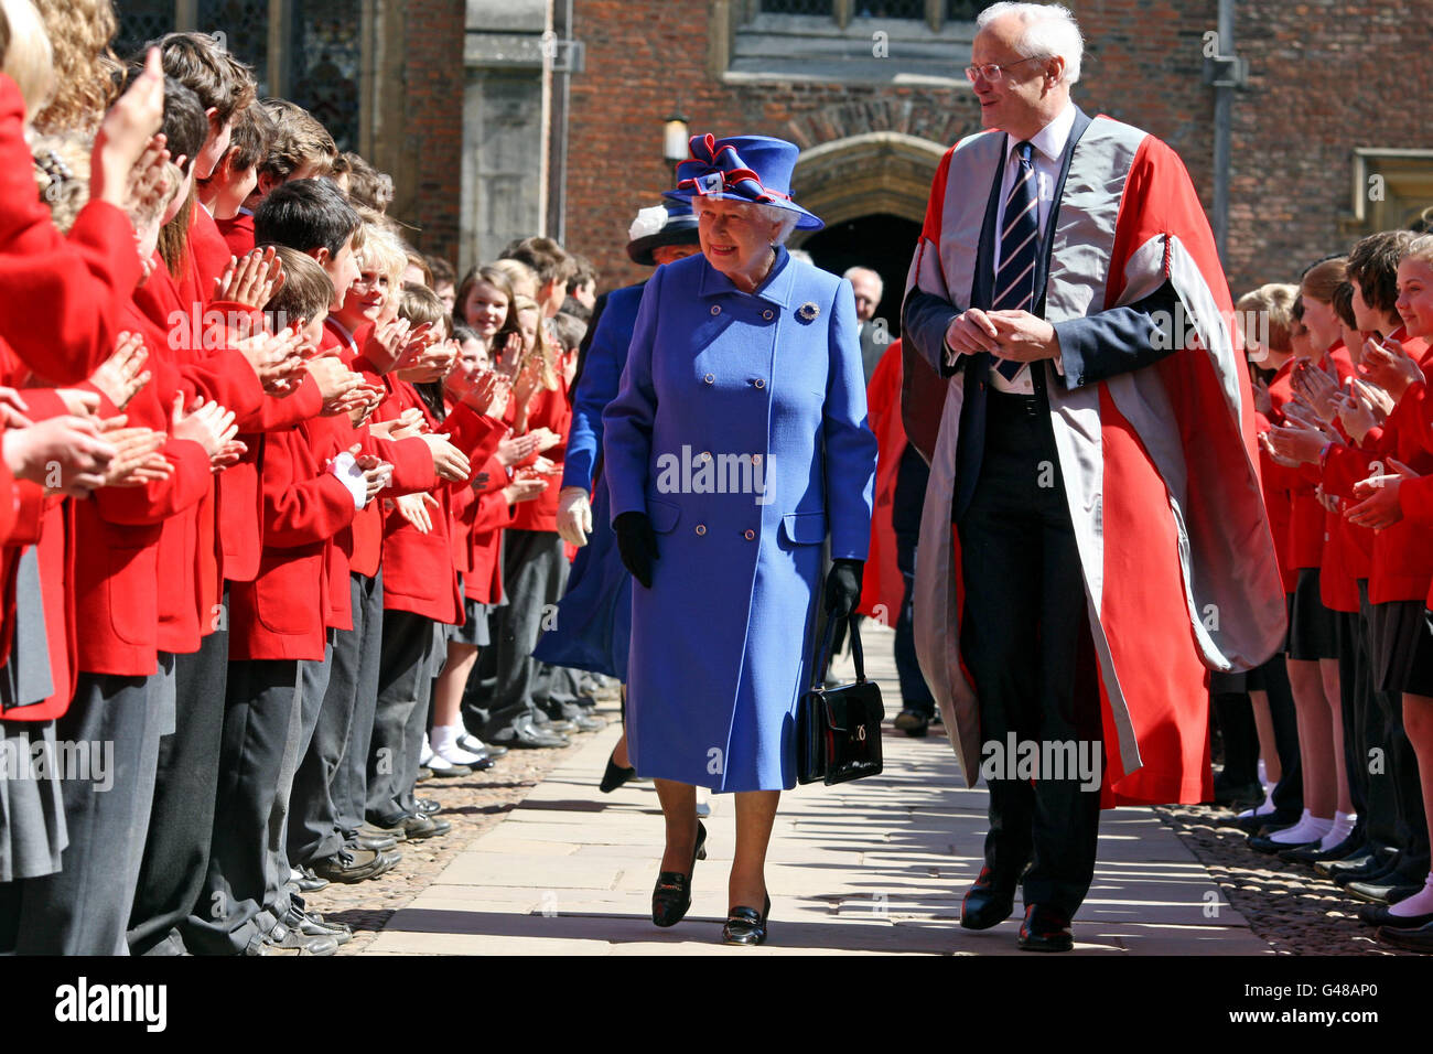
<path fill-rule="evenodd" d="M 1058 46 L 1029 44 L 1036 23 Z M 1022 885 L 1020 948 L 1066 951 L 1102 799 L 1209 794 L 1207 671 L 1268 658 L 1284 598 L 1184 166 L 1070 102 L 1065 9 L 979 26 L 989 130 L 937 169 L 903 310 L 907 433 L 931 463 L 916 641 L 990 789 L 962 925 L 997 925 Z"/>

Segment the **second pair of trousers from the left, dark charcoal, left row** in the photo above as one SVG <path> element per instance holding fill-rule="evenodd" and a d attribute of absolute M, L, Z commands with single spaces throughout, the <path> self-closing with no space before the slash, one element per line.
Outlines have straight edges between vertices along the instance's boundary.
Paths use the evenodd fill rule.
<path fill-rule="evenodd" d="M 225 585 L 225 611 L 228 609 Z M 176 714 L 159 741 L 159 773 L 139 889 L 129 913 L 130 955 L 179 955 L 181 928 L 209 870 L 214 799 L 219 786 L 224 690 L 229 677 L 229 631 L 224 624 L 199 650 L 175 655 Z"/>

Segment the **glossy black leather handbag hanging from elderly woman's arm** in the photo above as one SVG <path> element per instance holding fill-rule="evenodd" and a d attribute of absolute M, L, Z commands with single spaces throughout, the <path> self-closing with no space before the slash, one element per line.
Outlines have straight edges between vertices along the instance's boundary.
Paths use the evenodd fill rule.
<path fill-rule="evenodd" d="M 825 622 L 825 634 L 811 665 L 811 691 L 797 704 L 798 783 L 824 780 L 831 786 L 881 771 L 886 707 L 880 685 L 866 680 L 861 634 L 856 627 L 850 622 L 856 684 L 827 688 L 825 665 L 835 640 L 835 619 Z"/>

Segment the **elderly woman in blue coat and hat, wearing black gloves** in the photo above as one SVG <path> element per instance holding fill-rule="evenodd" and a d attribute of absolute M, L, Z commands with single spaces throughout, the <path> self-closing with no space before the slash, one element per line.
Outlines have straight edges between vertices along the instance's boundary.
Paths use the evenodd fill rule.
<path fill-rule="evenodd" d="M 696 786 L 735 792 L 722 938 L 761 944 L 765 855 L 795 786 L 821 543 L 827 609 L 851 611 L 870 541 L 876 437 L 851 284 L 782 242 L 823 224 L 791 201 L 797 148 L 691 141 L 669 196 L 702 252 L 646 284 L 622 386 L 603 413 L 612 526 L 632 589 L 628 753 L 656 783 L 666 852 L 652 921 L 691 905 L 704 856 Z M 759 905 L 759 906 L 758 906 Z"/>

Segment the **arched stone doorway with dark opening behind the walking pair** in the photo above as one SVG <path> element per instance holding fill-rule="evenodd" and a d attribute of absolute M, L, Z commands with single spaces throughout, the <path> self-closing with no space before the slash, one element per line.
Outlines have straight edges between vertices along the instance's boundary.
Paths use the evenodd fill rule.
<path fill-rule="evenodd" d="M 791 245 L 835 274 L 857 264 L 876 270 L 886 283 L 876 315 L 893 334 L 900 331 L 906 272 L 944 152 L 946 145 L 929 139 L 867 132 L 802 151 L 791 175 L 795 199 L 825 221 L 824 231 L 792 237 Z"/>

